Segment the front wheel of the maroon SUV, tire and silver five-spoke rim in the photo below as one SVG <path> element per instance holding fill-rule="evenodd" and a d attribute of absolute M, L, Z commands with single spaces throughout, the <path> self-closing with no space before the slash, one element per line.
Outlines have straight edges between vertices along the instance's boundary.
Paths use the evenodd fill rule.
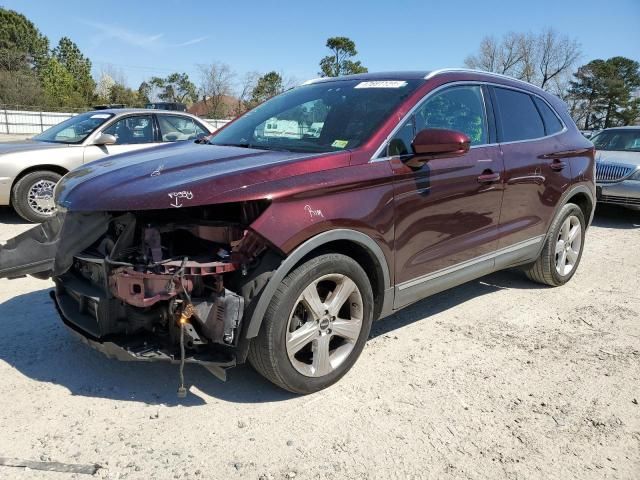
<path fill-rule="evenodd" d="M 249 362 L 294 393 L 337 382 L 356 362 L 373 320 L 367 274 L 352 258 L 319 255 L 293 270 L 271 299 Z"/>

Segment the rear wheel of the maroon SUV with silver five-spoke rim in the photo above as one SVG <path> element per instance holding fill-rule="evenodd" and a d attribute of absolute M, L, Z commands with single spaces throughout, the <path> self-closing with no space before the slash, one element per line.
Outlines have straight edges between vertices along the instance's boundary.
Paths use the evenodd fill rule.
<path fill-rule="evenodd" d="M 524 268 L 527 277 L 552 287 L 571 280 L 582 258 L 585 228 L 580 207 L 573 203 L 562 207 L 549 228 L 542 253 L 535 263 Z"/>

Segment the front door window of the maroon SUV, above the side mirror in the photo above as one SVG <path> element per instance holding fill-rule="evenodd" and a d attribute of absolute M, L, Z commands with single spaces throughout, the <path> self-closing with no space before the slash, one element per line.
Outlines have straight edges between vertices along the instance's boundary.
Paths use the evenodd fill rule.
<path fill-rule="evenodd" d="M 471 145 L 487 143 L 487 116 L 482 89 L 477 85 L 451 87 L 429 97 L 416 111 L 416 133 L 446 128 L 466 133 Z"/>

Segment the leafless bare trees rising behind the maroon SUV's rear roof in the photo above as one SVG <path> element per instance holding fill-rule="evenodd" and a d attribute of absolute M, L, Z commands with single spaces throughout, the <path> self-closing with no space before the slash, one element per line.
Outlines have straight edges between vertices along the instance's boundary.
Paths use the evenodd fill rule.
<path fill-rule="evenodd" d="M 465 64 L 562 94 L 579 57 L 580 45 L 575 40 L 549 28 L 537 35 L 509 32 L 499 41 L 485 37 Z"/>

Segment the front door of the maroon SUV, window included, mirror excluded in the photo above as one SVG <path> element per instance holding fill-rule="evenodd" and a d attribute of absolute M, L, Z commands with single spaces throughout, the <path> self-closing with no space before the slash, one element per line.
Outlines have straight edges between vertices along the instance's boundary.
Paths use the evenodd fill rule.
<path fill-rule="evenodd" d="M 395 176 L 396 308 L 489 273 L 497 248 L 504 165 L 490 144 L 483 88 L 431 94 L 389 142 Z M 471 149 L 420 168 L 404 163 L 425 128 L 461 131 Z"/>

